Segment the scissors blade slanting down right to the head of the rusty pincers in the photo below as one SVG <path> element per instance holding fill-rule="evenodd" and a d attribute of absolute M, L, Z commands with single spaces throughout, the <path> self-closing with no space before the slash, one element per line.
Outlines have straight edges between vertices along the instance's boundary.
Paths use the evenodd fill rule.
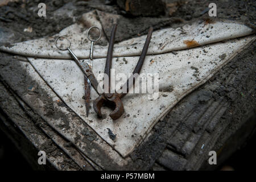
<path fill-rule="evenodd" d="M 89 79 L 90 83 L 92 84 L 93 88 L 96 92 L 100 95 L 102 92 L 101 88 L 98 88 L 98 81 L 92 72 L 92 68 L 90 68 L 89 64 L 85 61 L 79 60 L 79 64 L 81 65 L 84 74 Z"/>

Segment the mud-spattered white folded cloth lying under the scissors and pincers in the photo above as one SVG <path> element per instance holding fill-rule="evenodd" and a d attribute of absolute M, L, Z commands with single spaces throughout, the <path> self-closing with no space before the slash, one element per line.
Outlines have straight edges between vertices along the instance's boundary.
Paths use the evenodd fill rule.
<path fill-rule="evenodd" d="M 86 13 L 84 19 L 101 28 L 95 14 Z M 71 40 L 71 49 L 80 59 L 89 56 L 90 42 L 84 41 L 88 28 L 73 24 L 58 34 Z M 1 47 L 1 50 L 27 56 L 57 95 L 119 154 L 127 156 L 181 98 L 206 82 L 249 44 L 254 39 L 249 36 L 252 32 L 243 24 L 224 21 L 201 21 L 154 31 L 141 73 L 159 74 L 159 97 L 149 100 L 150 94 L 127 94 L 122 99 L 125 113 L 117 121 L 112 121 L 108 116 L 110 110 L 105 107 L 102 109 L 107 116 L 105 119 L 98 119 L 92 108 L 86 118 L 85 100 L 82 99 L 84 75 L 67 51 L 55 48 L 55 36 Z M 146 36 L 141 36 L 115 44 L 112 68 L 116 75 L 125 73 L 128 76 L 133 72 L 145 39 Z M 107 46 L 94 47 L 96 77 L 104 72 L 107 50 Z M 98 96 L 93 89 L 91 95 L 92 100 Z M 109 138 L 108 129 L 116 135 L 114 141 Z"/>

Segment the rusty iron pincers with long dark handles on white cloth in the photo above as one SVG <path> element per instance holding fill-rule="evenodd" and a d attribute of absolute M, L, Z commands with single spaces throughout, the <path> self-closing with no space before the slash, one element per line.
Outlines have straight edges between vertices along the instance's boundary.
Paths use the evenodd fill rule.
<path fill-rule="evenodd" d="M 112 113 L 109 114 L 109 116 L 115 120 L 118 119 L 119 117 L 121 117 L 121 115 L 124 113 L 124 109 L 123 109 L 123 103 L 121 101 L 121 98 L 124 97 L 128 92 L 129 92 L 129 80 L 131 80 L 130 78 L 126 81 L 125 85 L 126 85 L 126 93 L 110 93 L 110 69 L 111 69 L 111 65 L 112 65 L 112 54 L 113 54 L 113 47 L 114 47 L 114 36 L 115 36 L 115 31 L 117 30 L 117 24 L 114 25 L 113 29 L 112 29 L 112 34 L 110 36 L 110 42 L 109 42 L 109 48 L 108 48 L 108 55 L 106 57 L 106 65 L 105 65 L 105 74 L 108 76 L 108 89 L 109 92 L 108 93 L 103 93 L 101 94 L 94 102 L 93 102 L 93 109 L 96 111 L 98 117 L 102 117 L 101 114 L 101 107 L 105 104 L 109 107 L 114 106 L 114 110 L 112 111 Z M 133 75 L 135 73 L 141 72 L 141 68 L 142 65 L 144 63 L 144 59 L 146 57 L 147 54 L 147 49 L 148 46 L 150 44 L 150 39 L 151 39 L 151 35 L 152 35 L 152 31 L 153 28 L 150 27 L 148 34 L 147 34 L 147 38 L 146 38 L 146 42 L 144 43 L 144 47 L 142 49 L 142 53 L 141 56 L 139 57 L 138 63 L 133 71 Z M 135 78 L 133 77 L 133 85 L 134 85 L 134 81 Z M 93 83 L 93 82 L 92 82 Z M 124 86 L 124 85 L 123 85 Z"/>

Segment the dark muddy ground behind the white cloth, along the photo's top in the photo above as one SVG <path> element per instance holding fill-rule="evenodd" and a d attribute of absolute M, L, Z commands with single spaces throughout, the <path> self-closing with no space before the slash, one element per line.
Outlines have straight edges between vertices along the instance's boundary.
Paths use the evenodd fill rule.
<path fill-rule="evenodd" d="M 0 27 L 3 28 L 0 32 L 0 43 L 22 42 L 30 39 L 42 38 L 42 36 L 51 36 L 62 30 L 63 28 L 73 24 L 73 21 L 80 20 L 81 15 L 91 10 L 101 10 L 105 13 L 123 15 L 124 18 L 119 20 L 117 28 L 116 41 L 129 39 L 138 34 L 146 34 L 147 27 L 154 26 L 154 30 L 163 27 L 176 27 L 181 23 L 195 20 L 196 18 L 209 17 L 208 1 L 174 1 L 165 0 L 167 5 L 173 2 L 178 2 L 176 11 L 170 15 L 170 8 L 166 6 L 164 13 L 158 16 L 131 16 L 115 3 L 114 5 L 104 5 L 103 0 L 79 1 L 79 0 L 43 0 L 43 1 L 26 1 L 27 3 L 10 2 L 7 6 L 0 7 Z M 38 3 L 46 3 L 47 18 L 38 16 Z M 217 4 L 217 18 L 225 18 L 238 20 L 255 27 L 255 1 L 235 1 L 235 0 L 218 0 L 214 1 Z M 87 4 L 86 4 L 87 3 Z M 64 6 L 65 5 L 65 6 Z M 149 6 L 149 5 L 148 5 Z M 56 10 L 63 9 L 64 12 L 72 12 L 75 16 L 74 20 L 68 14 L 54 14 Z M 17 23 L 18 22 L 18 23 Z M 24 32 L 24 28 L 31 26 L 33 31 Z M 105 28 L 105 31 L 108 28 Z M 11 38 L 5 39 L 5 31 L 14 33 Z M 10 34 L 9 32 L 9 34 Z M 3 34 L 4 33 L 4 34 Z M 109 32 L 105 32 L 110 35 Z M 121 35 L 119 35 L 121 34 Z"/>

